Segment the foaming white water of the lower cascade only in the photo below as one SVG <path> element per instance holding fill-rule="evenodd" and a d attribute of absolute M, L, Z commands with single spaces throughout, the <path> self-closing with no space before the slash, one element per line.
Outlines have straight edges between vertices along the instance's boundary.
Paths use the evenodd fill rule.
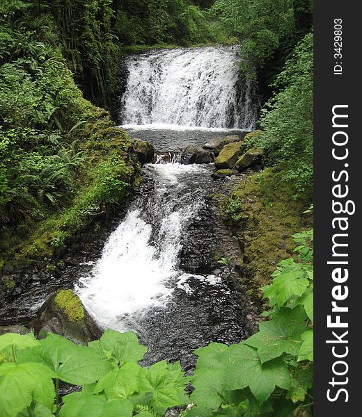
<path fill-rule="evenodd" d="M 157 230 L 134 208 L 120 223 L 91 274 L 79 279 L 77 293 L 88 311 L 103 327 L 125 330 L 123 318 L 142 313 L 152 306 L 164 306 L 182 272 L 177 268 L 182 229 L 198 210 L 191 199 L 176 209 L 167 206 L 169 193 L 183 193 L 180 176 L 198 174 L 200 165 L 151 165 L 157 181 L 155 199 L 148 210 L 159 220 Z M 174 202 L 173 202 L 174 204 Z M 152 242 L 151 242 L 152 240 Z"/>

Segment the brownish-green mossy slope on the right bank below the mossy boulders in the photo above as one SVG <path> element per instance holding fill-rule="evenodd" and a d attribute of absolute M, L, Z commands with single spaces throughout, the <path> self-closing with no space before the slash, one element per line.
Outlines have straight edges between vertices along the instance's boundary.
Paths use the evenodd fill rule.
<path fill-rule="evenodd" d="M 301 215 L 311 195 L 294 199 L 292 183 L 281 181 L 281 167 L 267 168 L 239 183 L 223 202 L 222 216 L 242 247 L 237 260 L 247 295 L 260 304 L 260 287 L 269 284 L 276 264 L 293 253 L 292 235 L 311 227 Z"/>

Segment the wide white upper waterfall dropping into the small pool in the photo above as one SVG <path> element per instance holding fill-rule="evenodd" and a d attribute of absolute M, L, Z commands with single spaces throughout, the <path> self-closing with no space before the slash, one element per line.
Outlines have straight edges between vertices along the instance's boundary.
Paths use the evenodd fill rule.
<path fill-rule="evenodd" d="M 123 124 L 253 129 L 255 88 L 239 75 L 239 47 L 166 49 L 129 56 Z"/>

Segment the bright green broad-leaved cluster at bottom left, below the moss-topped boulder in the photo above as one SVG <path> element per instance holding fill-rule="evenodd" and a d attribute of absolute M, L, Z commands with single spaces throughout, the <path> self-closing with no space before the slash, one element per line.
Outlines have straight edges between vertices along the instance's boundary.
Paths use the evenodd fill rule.
<path fill-rule="evenodd" d="M 17 351 L 15 359 L 10 346 Z M 1 416 L 163 416 L 168 407 L 187 402 L 187 379 L 179 363 L 141 368 L 137 361 L 145 350 L 134 333 L 112 330 L 88 347 L 50 333 L 40 341 L 33 335 L 0 336 Z M 61 409 L 54 390 L 59 380 L 82 386 L 81 392 L 63 397 Z"/>

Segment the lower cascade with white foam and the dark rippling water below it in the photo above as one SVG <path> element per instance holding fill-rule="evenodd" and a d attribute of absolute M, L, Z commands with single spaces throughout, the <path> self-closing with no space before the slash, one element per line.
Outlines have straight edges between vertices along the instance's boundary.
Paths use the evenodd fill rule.
<path fill-rule="evenodd" d="M 146 363 L 168 357 L 187 368 L 197 347 L 244 338 L 244 304 L 212 260 L 212 165 L 148 164 L 144 172 L 146 189 L 76 290 L 101 327 L 139 335 Z"/>

